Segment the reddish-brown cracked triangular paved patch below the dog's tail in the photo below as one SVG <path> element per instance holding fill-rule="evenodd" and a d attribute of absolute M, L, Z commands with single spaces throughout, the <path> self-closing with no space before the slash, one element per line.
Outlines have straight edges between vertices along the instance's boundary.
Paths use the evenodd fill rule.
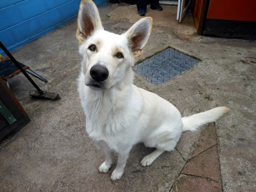
<path fill-rule="evenodd" d="M 222 191 L 214 123 L 210 123 L 202 131 L 192 154 L 172 186 L 171 191 L 178 190 L 197 192 Z"/>

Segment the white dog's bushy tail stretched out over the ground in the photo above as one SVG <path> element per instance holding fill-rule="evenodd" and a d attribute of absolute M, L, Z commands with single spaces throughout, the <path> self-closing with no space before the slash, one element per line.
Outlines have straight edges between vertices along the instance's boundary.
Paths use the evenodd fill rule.
<path fill-rule="evenodd" d="M 196 131 L 200 126 L 214 122 L 228 111 L 230 109 L 227 107 L 217 107 L 192 116 L 184 116 L 182 117 L 182 129 L 183 131 Z"/>

